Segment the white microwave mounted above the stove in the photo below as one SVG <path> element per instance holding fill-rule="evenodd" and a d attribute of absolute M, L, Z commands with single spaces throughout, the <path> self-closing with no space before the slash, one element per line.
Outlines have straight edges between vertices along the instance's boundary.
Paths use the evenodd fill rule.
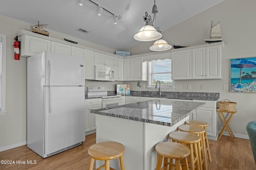
<path fill-rule="evenodd" d="M 99 81 L 114 81 L 114 71 L 111 67 L 94 66 L 94 80 Z"/>

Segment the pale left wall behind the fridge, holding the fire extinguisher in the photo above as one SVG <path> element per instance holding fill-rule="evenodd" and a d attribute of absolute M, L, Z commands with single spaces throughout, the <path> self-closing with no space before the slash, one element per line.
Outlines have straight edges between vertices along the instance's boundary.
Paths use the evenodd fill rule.
<path fill-rule="evenodd" d="M 27 59 L 14 60 L 13 38 L 21 29 L 30 31 L 30 23 L 0 15 L 0 33 L 7 35 L 6 49 L 6 115 L 0 115 L 0 151 L 26 144 L 27 140 Z M 80 45 L 114 54 L 116 50 L 96 45 L 82 39 L 51 31 L 50 37 L 72 39 Z M 88 83 L 90 84 L 90 83 Z M 114 90 L 111 83 L 110 90 Z"/>

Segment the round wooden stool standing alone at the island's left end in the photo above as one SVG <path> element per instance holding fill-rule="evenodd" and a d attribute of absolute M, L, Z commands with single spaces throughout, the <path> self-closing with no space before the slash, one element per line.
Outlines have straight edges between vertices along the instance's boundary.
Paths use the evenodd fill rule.
<path fill-rule="evenodd" d="M 88 149 L 88 154 L 91 157 L 89 170 L 93 170 L 94 159 L 104 160 L 105 164 L 97 168 L 100 170 L 105 167 L 105 170 L 110 170 L 110 160 L 119 158 L 121 170 L 124 168 L 124 145 L 118 142 L 100 142 L 92 145 Z M 114 170 L 111 168 L 111 170 Z"/>

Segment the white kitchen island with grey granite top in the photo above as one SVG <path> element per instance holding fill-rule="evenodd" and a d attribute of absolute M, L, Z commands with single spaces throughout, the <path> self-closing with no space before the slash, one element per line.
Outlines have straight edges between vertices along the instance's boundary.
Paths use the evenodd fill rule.
<path fill-rule="evenodd" d="M 96 143 L 122 143 L 126 170 L 154 170 L 159 142 L 169 141 L 168 134 L 189 119 L 204 102 L 150 100 L 133 104 L 91 110 L 96 116 Z M 96 160 L 96 168 L 104 162 Z M 120 169 L 119 160 L 110 166 Z"/>

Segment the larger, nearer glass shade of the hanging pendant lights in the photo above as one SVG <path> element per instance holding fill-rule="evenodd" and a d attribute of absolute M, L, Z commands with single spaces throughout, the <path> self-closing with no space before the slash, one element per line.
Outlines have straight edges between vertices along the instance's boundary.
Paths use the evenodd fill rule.
<path fill-rule="evenodd" d="M 150 23 L 146 23 L 138 33 L 134 35 L 134 39 L 138 41 L 154 41 L 160 39 L 162 34 L 156 30 Z"/>

